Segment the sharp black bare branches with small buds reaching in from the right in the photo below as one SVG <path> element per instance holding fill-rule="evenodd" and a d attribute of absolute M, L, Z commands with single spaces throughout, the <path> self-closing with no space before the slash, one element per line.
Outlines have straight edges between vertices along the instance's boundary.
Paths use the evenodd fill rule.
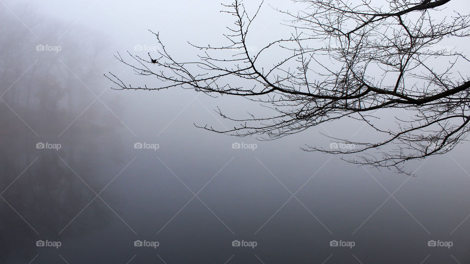
<path fill-rule="evenodd" d="M 138 74 L 159 79 L 162 86 L 138 87 L 112 73 L 108 77 L 117 89 L 192 88 L 211 95 L 242 96 L 274 110 L 273 116 L 248 118 L 229 117 L 218 110 L 235 122 L 235 128 L 204 127 L 237 136 L 271 140 L 350 117 L 383 138 L 365 142 L 334 138 L 352 147 L 304 149 L 354 154 L 347 160 L 400 172 L 405 161 L 446 153 L 464 139 L 470 129 L 470 78 L 464 71 L 469 59 L 457 48 L 440 45 L 468 41 L 470 16 L 459 14 L 454 1 L 294 2 L 299 12 L 279 10 L 291 18 L 290 37 L 253 49 L 250 32 L 262 24 L 255 20 L 262 5 L 250 15 L 242 1 L 235 0 L 223 11 L 235 19 L 225 35 L 228 44 L 193 45 L 202 51 L 198 61 L 175 59 L 156 33 L 161 45 L 158 56 L 129 53 L 131 62 L 117 56 Z M 443 16 L 444 8 L 452 16 Z M 268 57 L 278 63 L 266 65 L 263 60 Z M 409 117 L 379 125 L 375 111 L 394 109 L 406 110 Z"/>

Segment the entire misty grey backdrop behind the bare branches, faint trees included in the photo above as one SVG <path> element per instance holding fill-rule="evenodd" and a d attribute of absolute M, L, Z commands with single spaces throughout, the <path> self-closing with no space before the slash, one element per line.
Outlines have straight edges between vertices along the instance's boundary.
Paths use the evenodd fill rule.
<path fill-rule="evenodd" d="M 295 10 L 265 1 L 255 46 L 289 32 L 269 5 Z M 470 11 L 466 0 L 451 5 Z M 417 170 L 410 178 L 299 148 L 328 146 L 320 132 L 372 136 L 360 124 L 259 142 L 193 125 L 233 126 L 217 106 L 238 117 L 266 112 L 243 99 L 110 89 L 108 71 L 158 87 L 113 57 L 147 52 L 136 45 L 152 52 L 147 29 L 184 61 L 197 54 L 187 41 L 219 43 L 233 23 L 221 8 L 202 0 L 0 1 L 0 263 L 470 263 L 467 143 L 407 164 Z M 235 142 L 257 149 L 232 149 Z"/>

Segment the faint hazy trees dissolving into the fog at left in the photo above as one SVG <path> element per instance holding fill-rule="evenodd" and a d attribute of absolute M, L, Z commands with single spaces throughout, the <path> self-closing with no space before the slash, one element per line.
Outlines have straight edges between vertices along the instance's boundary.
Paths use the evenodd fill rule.
<path fill-rule="evenodd" d="M 106 42 L 89 30 L 61 26 L 34 7 L 8 4 L 12 11 L 0 9 L 0 23 L 7 25 L 0 29 L 0 263 L 31 260 L 34 241 L 57 237 L 94 197 L 68 165 L 98 189 L 122 153 L 113 140 L 120 122 L 105 107 L 90 107 L 94 98 L 81 81 L 105 89 L 106 79 L 96 72 L 104 66 L 97 62 Z M 23 22 L 33 25 L 33 33 Z M 61 50 L 37 47 L 46 44 Z M 63 149 L 37 150 L 38 142 Z M 110 213 L 103 203 L 90 204 L 60 239 L 103 226 Z"/>

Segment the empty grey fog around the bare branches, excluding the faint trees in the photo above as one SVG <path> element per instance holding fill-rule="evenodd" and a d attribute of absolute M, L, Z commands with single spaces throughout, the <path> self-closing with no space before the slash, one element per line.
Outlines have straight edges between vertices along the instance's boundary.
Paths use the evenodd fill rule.
<path fill-rule="evenodd" d="M 16 10 L 14 5 L 21 1 L 14 2 L 5 4 Z M 187 41 L 217 44 L 223 41 L 225 26 L 233 23 L 230 16 L 219 12 L 222 6 L 218 1 L 23 2 L 32 3 L 31 8 L 38 14 L 59 21 L 64 33 L 83 27 L 104 36 L 111 45 L 106 45 L 100 58 L 109 60 L 103 61 L 106 67 L 95 77 L 104 78 L 103 73 L 112 71 L 122 73 L 122 79 L 133 84 L 157 86 L 159 82 L 136 76 L 112 56 L 126 50 L 134 52 L 136 45 L 156 45 L 147 29 L 160 32 L 175 57 L 190 60 L 197 50 Z M 246 3 L 255 6 L 252 1 Z M 259 31 L 252 39 L 254 45 L 289 32 L 279 24 L 282 16 L 269 5 L 295 10 L 295 4 L 289 1 L 265 1 L 254 25 Z M 452 0 L 451 6 L 464 14 L 470 12 L 467 0 Z M 450 14 L 448 10 L 443 12 Z M 33 33 L 39 30 L 21 14 L 18 19 L 24 20 L 24 26 Z M 43 39 L 38 42 L 47 44 Z M 468 45 L 452 45 L 470 51 Z M 109 85 L 106 79 L 103 83 Z M 265 112 L 243 99 L 214 99 L 184 89 L 116 91 L 107 85 L 93 86 L 91 90 L 97 94 L 104 91 L 102 102 L 94 107 L 107 112 L 110 120 L 120 126 L 119 137 L 110 138 L 110 144 L 124 146 L 119 165 L 101 168 L 109 173 L 100 175 L 104 182 L 126 168 L 104 194 L 112 200 L 109 206 L 114 212 L 103 208 L 111 214 L 107 228 L 95 228 L 86 235 L 64 232 L 59 236 L 65 244 L 60 253 L 38 251 L 38 255 L 47 256 L 44 262 L 57 254 L 70 263 L 126 263 L 134 255 L 135 263 L 161 259 L 165 263 L 224 263 L 229 259 L 229 263 L 322 263 L 329 258 L 331 263 L 376 263 L 383 257 L 389 258 L 390 263 L 420 263 L 426 258 L 425 263 L 470 261 L 470 220 L 466 220 L 470 214 L 468 143 L 447 155 L 410 163 L 408 168 L 418 171 L 417 177 L 408 178 L 392 171 L 358 168 L 341 161 L 339 156 L 300 150 L 305 144 L 328 146 L 329 139 L 320 132 L 334 136 L 355 134 L 356 138 L 371 136 L 366 128 L 350 121 L 260 142 L 254 137 L 206 132 L 193 125 L 233 126 L 220 120 L 213 111 L 217 106 L 235 117 L 244 116 L 247 110 Z M 80 89 L 88 94 L 86 88 Z M 92 102 L 94 97 L 87 96 Z M 116 97 L 118 103 L 114 104 Z M 87 115 L 86 111 L 77 117 L 77 123 L 70 120 L 70 130 L 86 130 L 77 125 L 80 120 L 93 120 L 93 114 Z M 64 129 L 59 127 L 53 136 L 47 135 L 47 140 L 60 140 L 56 135 Z M 160 148 L 136 150 L 136 142 L 159 144 Z M 236 150 L 232 148 L 236 142 L 257 144 L 257 148 Z M 63 144 L 66 146 L 67 142 Z M 101 147 L 109 145 L 103 143 Z M 126 164 L 130 165 L 125 167 Z M 85 166 L 75 164 L 76 168 Z M 83 205 L 77 206 L 75 213 L 82 208 Z M 72 220 L 73 216 L 67 218 Z M 79 222 L 80 217 L 76 224 Z M 58 226 L 57 230 L 62 228 Z M 31 241 L 47 239 L 48 235 L 41 234 Z M 140 250 L 132 245 L 137 239 L 157 240 L 161 246 L 157 251 Z M 258 246 L 253 250 L 236 248 L 231 246 L 233 240 L 257 241 Z M 354 241 L 356 246 L 349 251 L 329 247 L 331 240 Z M 454 246 L 449 250 L 427 247 L 429 240 L 452 241 Z M 77 249 L 82 247 L 85 250 Z M 26 259 L 35 255 L 31 252 Z M 42 263 L 40 258 L 37 261 Z"/>

